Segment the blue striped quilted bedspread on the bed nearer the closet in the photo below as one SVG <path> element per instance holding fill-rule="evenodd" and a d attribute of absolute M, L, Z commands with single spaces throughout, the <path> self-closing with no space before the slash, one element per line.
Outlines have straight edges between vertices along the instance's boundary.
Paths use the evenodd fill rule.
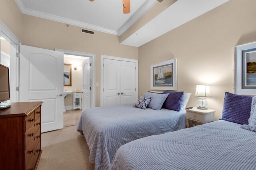
<path fill-rule="evenodd" d="M 186 127 L 186 111 L 139 109 L 133 104 L 86 109 L 77 129 L 84 134 L 95 170 L 108 170 L 122 145 Z"/>

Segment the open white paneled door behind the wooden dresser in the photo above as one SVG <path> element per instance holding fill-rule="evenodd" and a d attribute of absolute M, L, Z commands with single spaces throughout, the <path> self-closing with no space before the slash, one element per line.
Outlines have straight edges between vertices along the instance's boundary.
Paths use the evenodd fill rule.
<path fill-rule="evenodd" d="M 20 45 L 20 102 L 42 101 L 42 132 L 63 128 L 63 53 Z"/>

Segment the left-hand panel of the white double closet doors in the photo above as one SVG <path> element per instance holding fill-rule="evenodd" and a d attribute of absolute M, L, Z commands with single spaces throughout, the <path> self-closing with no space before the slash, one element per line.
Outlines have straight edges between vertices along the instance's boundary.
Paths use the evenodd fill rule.
<path fill-rule="evenodd" d="M 103 60 L 103 106 L 120 105 L 120 61 Z"/>

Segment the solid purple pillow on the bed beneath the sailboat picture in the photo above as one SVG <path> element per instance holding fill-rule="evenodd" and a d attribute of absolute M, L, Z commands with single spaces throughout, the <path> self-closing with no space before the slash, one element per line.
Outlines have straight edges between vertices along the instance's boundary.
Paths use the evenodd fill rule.
<path fill-rule="evenodd" d="M 169 96 L 166 98 L 162 108 L 180 111 L 182 104 L 182 96 L 184 92 L 169 92 L 164 91 L 163 94 L 168 94 Z"/>

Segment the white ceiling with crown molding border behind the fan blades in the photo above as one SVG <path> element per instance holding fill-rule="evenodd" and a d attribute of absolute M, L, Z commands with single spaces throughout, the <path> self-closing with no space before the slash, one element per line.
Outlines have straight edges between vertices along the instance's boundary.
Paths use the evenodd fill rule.
<path fill-rule="evenodd" d="M 122 34 L 157 2 L 156 0 L 130 0 L 131 12 L 123 14 L 122 0 L 15 1 L 23 14 L 115 35 Z"/>

